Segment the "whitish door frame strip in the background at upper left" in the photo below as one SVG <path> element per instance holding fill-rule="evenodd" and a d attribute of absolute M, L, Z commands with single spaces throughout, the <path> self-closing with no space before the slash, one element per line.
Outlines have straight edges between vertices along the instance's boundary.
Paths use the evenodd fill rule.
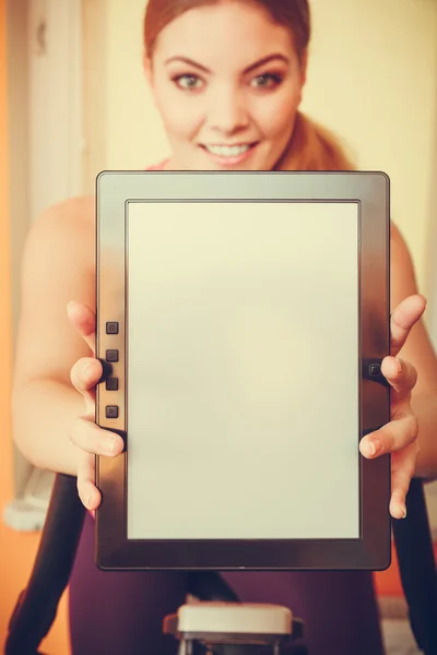
<path fill-rule="evenodd" d="M 82 3 L 33 0 L 28 21 L 31 218 L 82 193 Z"/>

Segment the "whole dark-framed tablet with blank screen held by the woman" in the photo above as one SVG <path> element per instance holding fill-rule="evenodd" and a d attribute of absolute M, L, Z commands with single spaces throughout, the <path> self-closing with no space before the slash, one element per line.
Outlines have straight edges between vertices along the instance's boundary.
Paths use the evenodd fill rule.
<path fill-rule="evenodd" d="M 389 180 L 97 178 L 102 569 L 383 569 Z"/>

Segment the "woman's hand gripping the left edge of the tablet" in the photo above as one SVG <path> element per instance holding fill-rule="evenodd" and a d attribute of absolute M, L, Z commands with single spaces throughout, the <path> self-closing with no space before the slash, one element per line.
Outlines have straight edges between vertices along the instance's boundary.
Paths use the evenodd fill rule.
<path fill-rule="evenodd" d="M 79 334 L 95 355 L 95 313 L 86 305 L 71 301 L 67 313 Z M 103 376 L 103 367 L 95 357 L 82 357 L 71 369 L 71 382 L 83 396 L 84 414 L 75 418 L 69 430 L 71 441 L 80 451 L 78 464 L 78 492 L 87 510 L 96 510 L 102 496 L 95 486 L 95 455 L 115 457 L 123 448 L 119 434 L 104 430 L 95 424 L 95 386 Z"/>

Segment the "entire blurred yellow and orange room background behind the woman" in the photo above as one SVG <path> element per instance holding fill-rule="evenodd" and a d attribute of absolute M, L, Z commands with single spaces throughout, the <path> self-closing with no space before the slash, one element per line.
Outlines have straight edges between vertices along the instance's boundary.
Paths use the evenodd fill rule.
<path fill-rule="evenodd" d="M 12 445 L 23 245 L 47 206 L 94 194 L 101 170 L 143 169 L 168 154 L 142 71 L 144 9 L 145 0 L 0 0 L 0 644 L 52 483 Z M 437 1 L 311 0 L 311 9 L 303 109 L 343 139 L 358 168 L 389 175 L 392 218 L 437 344 Z M 437 541 L 435 484 L 427 502 Z M 409 630 L 395 557 L 376 584 L 394 643 Z M 44 650 L 69 653 L 66 596 Z"/>

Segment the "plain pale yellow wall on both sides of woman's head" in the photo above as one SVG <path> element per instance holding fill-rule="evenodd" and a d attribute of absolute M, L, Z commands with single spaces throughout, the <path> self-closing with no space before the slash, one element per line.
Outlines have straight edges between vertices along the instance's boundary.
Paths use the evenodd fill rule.
<path fill-rule="evenodd" d="M 142 73 L 144 7 L 145 0 L 105 4 L 108 168 L 142 168 L 166 154 Z M 424 289 L 437 172 L 437 3 L 311 0 L 311 7 L 304 109 L 345 139 L 361 168 L 390 176 L 392 216 L 408 239 Z"/>

